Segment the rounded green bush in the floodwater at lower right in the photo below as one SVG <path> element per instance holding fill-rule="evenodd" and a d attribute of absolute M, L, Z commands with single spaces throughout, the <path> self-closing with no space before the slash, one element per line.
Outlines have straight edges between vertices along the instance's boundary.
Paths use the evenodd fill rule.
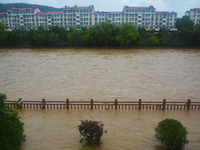
<path fill-rule="evenodd" d="M 181 122 L 174 119 L 165 119 L 155 128 L 155 137 L 161 144 L 170 150 L 182 149 L 187 140 L 188 131 Z"/>

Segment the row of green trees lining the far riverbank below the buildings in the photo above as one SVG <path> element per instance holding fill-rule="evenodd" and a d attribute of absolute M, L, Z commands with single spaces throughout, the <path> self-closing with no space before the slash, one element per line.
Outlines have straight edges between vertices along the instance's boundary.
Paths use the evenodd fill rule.
<path fill-rule="evenodd" d="M 40 26 L 23 32 L 8 32 L 0 23 L 0 46 L 200 46 L 200 25 L 195 25 L 184 16 L 176 21 L 177 31 L 155 30 L 146 32 L 131 23 L 114 25 L 110 21 L 101 22 L 91 28 L 65 28 Z"/>

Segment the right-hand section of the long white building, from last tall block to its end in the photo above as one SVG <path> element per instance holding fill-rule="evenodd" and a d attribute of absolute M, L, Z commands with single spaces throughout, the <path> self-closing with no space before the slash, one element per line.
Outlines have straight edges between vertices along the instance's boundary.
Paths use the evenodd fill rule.
<path fill-rule="evenodd" d="M 177 13 L 166 11 L 155 11 L 153 6 L 150 7 L 124 7 L 126 15 L 125 22 L 132 22 L 138 27 L 149 29 L 175 29 Z"/>

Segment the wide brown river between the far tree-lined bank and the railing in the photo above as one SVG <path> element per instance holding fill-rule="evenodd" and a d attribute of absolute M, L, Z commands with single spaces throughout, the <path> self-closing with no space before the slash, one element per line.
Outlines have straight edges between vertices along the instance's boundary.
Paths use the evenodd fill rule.
<path fill-rule="evenodd" d="M 0 50 L 15 100 L 200 100 L 200 50 Z"/>

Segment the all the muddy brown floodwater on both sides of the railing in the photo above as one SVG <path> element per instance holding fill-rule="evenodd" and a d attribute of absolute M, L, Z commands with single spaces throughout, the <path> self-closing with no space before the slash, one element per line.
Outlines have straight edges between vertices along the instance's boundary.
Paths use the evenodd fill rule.
<path fill-rule="evenodd" d="M 200 50 L 1 49 L 0 92 L 9 100 L 200 100 Z M 185 150 L 200 149 L 200 112 L 19 110 L 23 150 L 163 150 L 154 128 L 165 118 L 188 129 Z M 79 143 L 80 120 L 103 121 L 103 145 Z"/>

